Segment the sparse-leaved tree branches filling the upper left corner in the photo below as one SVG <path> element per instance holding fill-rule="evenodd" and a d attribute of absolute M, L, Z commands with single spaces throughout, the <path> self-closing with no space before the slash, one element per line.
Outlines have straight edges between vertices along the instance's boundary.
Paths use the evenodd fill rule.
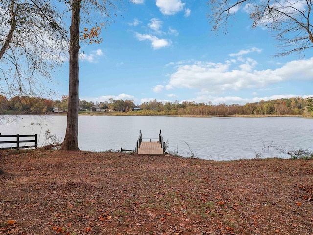
<path fill-rule="evenodd" d="M 62 62 L 62 14 L 47 0 L 0 1 L 0 93 L 34 95 Z"/>

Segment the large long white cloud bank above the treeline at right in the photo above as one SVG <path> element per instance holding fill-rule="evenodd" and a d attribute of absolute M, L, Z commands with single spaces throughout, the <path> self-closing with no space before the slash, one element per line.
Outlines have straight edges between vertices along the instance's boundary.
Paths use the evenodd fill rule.
<path fill-rule="evenodd" d="M 246 54 L 246 52 L 240 51 L 233 55 L 242 54 Z M 277 69 L 257 70 L 257 64 L 251 58 L 242 58 L 242 61 L 227 60 L 224 63 L 194 61 L 180 64 L 175 67 L 176 71 L 169 76 L 170 80 L 165 88 L 189 88 L 217 93 L 263 88 L 291 79 L 312 80 L 313 57 L 306 60 L 294 60 Z"/>

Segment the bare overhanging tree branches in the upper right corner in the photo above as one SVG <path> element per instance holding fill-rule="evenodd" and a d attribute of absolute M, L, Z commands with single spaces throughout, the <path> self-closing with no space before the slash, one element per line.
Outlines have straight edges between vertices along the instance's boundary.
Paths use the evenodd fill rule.
<path fill-rule="evenodd" d="M 229 20 L 240 11 L 248 12 L 252 28 L 268 28 L 280 42 L 280 53 L 303 54 L 313 47 L 312 0 L 210 0 L 208 18 L 217 31 L 227 32 Z"/>

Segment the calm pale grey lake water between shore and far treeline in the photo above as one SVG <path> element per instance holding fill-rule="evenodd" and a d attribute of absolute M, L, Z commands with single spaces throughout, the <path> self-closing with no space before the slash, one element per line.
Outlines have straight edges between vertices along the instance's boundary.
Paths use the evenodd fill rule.
<path fill-rule="evenodd" d="M 38 134 L 43 145 L 47 129 L 63 139 L 66 116 L 4 116 L 2 134 Z M 31 125 L 31 123 L 34 123 Z M 79 116 L 81 150 L 135 150 L 139 129 L 143 138 L 158 138 L 162 130 L 170 152 L 213 160 L 261 157 L 284 157 L 278 149 L 313 150 L 313 119 L 275 118 L 180 118 L 164 116 Z M 288 155 L 285 155 L 288 157 Z"/>

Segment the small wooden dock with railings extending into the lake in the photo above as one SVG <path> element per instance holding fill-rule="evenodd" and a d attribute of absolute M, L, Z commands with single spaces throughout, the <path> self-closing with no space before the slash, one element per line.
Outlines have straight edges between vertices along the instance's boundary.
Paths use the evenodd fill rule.
<path fill-rule="evenodd" d="M 164 142 L 163 137 L 161 134 L 161 131 L 159 133 L 158 141 L 152 141 L 157 140 L 153 138 L 149 139 L 143 139 L 141 130 L 139 132 L 139 138 L 137 141 L 136 146 L 136 153 L 139 155 L 164 155 Z M 142 141 L 142 140 L 149 140 L 149 141 Z"/>

